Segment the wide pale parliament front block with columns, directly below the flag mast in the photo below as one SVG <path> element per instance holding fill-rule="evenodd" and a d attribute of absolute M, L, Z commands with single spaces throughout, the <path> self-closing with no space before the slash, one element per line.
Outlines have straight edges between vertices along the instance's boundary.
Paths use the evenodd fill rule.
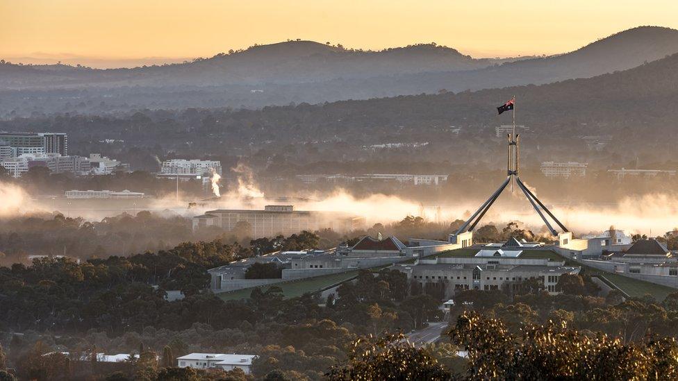
<path fill-rule="evenodd" d="M 399 264 L 408 280 L 421 287 L 443 287 L 445 298 L 468 289 L 518 289 L 522 281 L 539 280 L 549 294 L 559 294 L 556 285 L 563 274 L 578 274 L 579 266 L 565 266 L 565 261 L 549 258 L 522 258 L 522 251 L 491 249 L 490 255 L 473 257 L 436 257 L 420 259 L 414 264 Z"/>

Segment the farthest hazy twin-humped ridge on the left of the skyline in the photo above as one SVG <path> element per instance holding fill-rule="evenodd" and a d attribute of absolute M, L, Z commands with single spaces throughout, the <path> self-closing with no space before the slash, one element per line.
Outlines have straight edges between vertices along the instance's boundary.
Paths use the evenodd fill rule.
<path fill-rule="evenodd" d="M 0 81 L 8 86 L 93 85 L 134 81 L 135 85 L 233 85 L 305 83 L 335 78 L 367 78 L 427 71 L 479 69 L 497 60 L 474 59 L 455 49 L 417 44 L 383 51 L 349 50 L 313 41 L 288 41 L 251 46 L 245 51 L 220 53 L 174 65 L 133 69 L 90 69 L 66 65 L 31 65 L 0 68 Z M 29 78 L 17 78 L 24 71 Z M 7 74 L 13 74 L 8 76 Z M 38 78 L 40 77 L 40 78 Z M 9 80 L 9 81 L 8 81 Z M 14 80 L 14 82 L 13 82 Z"/>

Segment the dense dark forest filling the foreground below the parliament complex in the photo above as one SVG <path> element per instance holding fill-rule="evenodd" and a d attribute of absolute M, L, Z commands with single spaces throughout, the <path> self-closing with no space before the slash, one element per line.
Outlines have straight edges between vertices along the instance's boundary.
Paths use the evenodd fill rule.
<path fill-rule="evenodd" d="M 204 267 L 232 258 L 231 246 L 212 242 L 81 264 L 44 259 L 0 268 L 5 307 L 0 341 L 6 353 L 0 369 L 17 368 L 19 376 L 38 380 L 92 374 L 108 380 L 164 380 L 167 372 L 175 372 L 163 365 L 168 353 L 177 357 L 213 351 L 259 355 L 254 377 L 271 380 L 373 379 L 375 374 L 398 378 L 427 372 L 445 380 L 491 374 L 574 377 L 590 369 L 609 379 L 657 369 L 675 372 L 675 342 L 664 338 L 675 334 L 678 293 L 662 302 L 651 296 L 625 299 L 617 291 L 602 298 L 586 273 L 561 278 L 563 294 L 558 296 L 549 296 L 530 280 L 511 292 L 463 291 L 449 312 L 449 337 L 412 347 L 397 336 L 381 335 L 443 319 L 435 285 L 420 289 L 404 274 L 384 269 L 361 271 L 354 283 L 341 285 L 337 296 L 326 300 L 317 294 L 284 298 L 278 287 L 254 289 L 246 300 L 224 301 L 202 291 Z M 168 273 L 173 275 L 168 278 Z M 158 289 L 150 286 L 156 282 Z M 179 283 L 186 298 L 165 300 L 163 289 Z M 24 333 L 7 333 L 15 331 Z M 575 347 L 579 349 L 565 350 Z M 126 371 L 106 375 L 96 366 L 69 367 L 58 355 L 42 356 L 57 348 L 83 354 L 141 353 L 142 359 L 163 354 L 163 360 L 130 362 Z M 457 357 L 456 351 L 465 348 L 468 359 Z M 540 360 L 554 350 L 563 356 Z M 617 356 L 619 366 L 602 366 L 609 364 L 603 358 Z M 41 360 L 28 366 L 35 358 Z M 396 362 L 402 366 L 392 366 Z M 634 369 L 631 363 L 643 365 Z"/>

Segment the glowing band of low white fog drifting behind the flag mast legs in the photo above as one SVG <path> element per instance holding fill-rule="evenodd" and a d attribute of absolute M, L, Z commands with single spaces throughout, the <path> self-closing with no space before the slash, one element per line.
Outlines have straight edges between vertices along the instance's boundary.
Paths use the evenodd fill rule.
<path fill-rule="evenodd" d="M 68 217 L 83 217 L 98 221 L 122 212 L 135 214 L 151 210 L 159 214 L 192 217 L 213 209 L 263 209 L 265 205 L 294 205 L 295 210 L 338 212 L 364 217 L 366 226 L 374 223 L 392 223 L 408 215 L 421 216 L 427 221 L 449 223 L 455 219 L 467 219 L 479 208 L 480 200 L 450 200 L 440 205 L 424 204 L 414 198 L 386 194 L 356 196 L 340 187 L 331 192 L 297 192 L 288 198 L 267 197 L 246 167 L 239 167 L 236 181 L 223 188 L 224 196 L 198 202 L 189 196 L 175 194 L 140 200 L 70 200 L 57 205 L 56 200 L 40 200 L 31 196 L 19 185 L 0 183 L 0 217 L 13 217 L 37 212 L 62 212 Z M 534 189 L 533 189 L 534 191 Z M 548 200 L 542 200 L 549 205 Z M 65 205 L 67 204 L 67 205 Z M 438 212 L 438 207 L 440 207 Z M 673 194 L 654 193 L 627 196 L 617 203 L 549 206 L 552 212 L 576 235 L 600 232 L 614 225 L 627 234 L 663 235 L 678 226 L 678 197 Z M 518 190 L 506 189 L 495 205 L 488 211 L 479 226 L 488 223 L 498 228 L 509 221 L 524 224 L 535 233 L 545 232 L 543 221 L 531 209 L 529 202 Z"/>

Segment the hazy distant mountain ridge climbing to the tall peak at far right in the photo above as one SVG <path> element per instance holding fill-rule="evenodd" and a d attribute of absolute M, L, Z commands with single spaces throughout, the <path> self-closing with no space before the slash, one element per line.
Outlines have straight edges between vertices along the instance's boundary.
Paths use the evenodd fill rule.
<path fill-rule="evenodd" d="M 629 29 L 559 56 L 506 62 L 483 69 L 381 76 L 362 81 L 332 81 L 346 93 L 373 89 L 374 96 L 459 92 L 514 85 L 540 85 L 571 78 L 590 78 L 631 69 L 678 53 L 678 31 L 657 26 Z M 364 98 L 370 96 L 365 94 Z"/>

